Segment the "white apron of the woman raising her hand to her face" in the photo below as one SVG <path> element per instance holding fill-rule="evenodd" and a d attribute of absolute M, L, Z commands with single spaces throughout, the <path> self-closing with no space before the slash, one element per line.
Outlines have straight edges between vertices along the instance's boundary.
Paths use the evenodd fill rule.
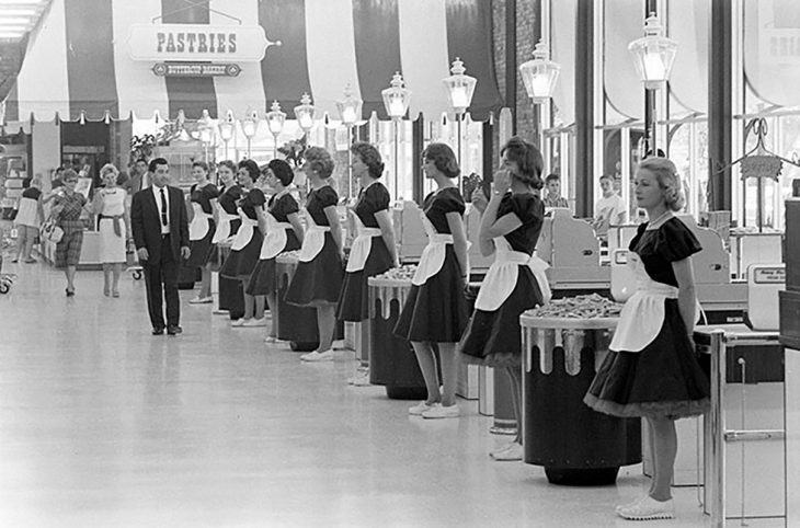
<path fill-rule="evenodd" d="M 494 239 L 494 262 L 481 283 L 475 307 L 478 310 L 493 312 L 511 296 L 519 277 L 519 265 L 528 266 L 536 278 L 545 303 L 550 301 L 550 285 L 545 271 L 550 267 L 535 255 L 514 251 L 505 237 Z"/>

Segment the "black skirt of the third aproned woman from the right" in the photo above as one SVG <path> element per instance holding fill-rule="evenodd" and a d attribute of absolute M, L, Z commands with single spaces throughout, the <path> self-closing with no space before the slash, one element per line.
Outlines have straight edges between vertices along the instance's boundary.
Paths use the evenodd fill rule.
<path fill-rule="evenodd" d="M 425 284 L 411 287 L 395 335 L 416 342 L 458 343 L 469 320 L 465 288 L 456 252 L 447 244 L 442 269 Z"/>

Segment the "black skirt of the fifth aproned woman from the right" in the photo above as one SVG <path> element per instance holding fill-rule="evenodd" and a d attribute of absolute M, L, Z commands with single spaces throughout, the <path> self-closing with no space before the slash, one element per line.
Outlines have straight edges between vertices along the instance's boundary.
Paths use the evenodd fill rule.
<path fill-rule="evenodd" d="M 286 289 L 284 300 L 296 306 L 334 305 L 342 290 L 344 269 L 333 236 L 324 233 L 325 241 L 317 256 L 297 264 L 297 271 Z"/>

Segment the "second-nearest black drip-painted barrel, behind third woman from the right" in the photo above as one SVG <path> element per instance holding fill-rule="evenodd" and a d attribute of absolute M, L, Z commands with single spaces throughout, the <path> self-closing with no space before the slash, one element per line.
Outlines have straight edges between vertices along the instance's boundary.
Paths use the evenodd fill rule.
<path fill-rule="evenodd" d="M 386 387 L 386 395 L 397 400 L 427 398 L 425 379 L 411 343 L 393 334 L 410 279 L 368 279 L 369 288 L 369 382 Z"/>

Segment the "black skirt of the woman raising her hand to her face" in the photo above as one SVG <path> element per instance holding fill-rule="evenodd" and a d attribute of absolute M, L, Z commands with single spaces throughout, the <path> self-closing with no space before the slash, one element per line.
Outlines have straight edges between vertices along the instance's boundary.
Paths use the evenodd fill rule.
<path fill-rule="evenodd" d="M 519 266 L 516 285 L 494 311 L 476 309 L 458 345 L 461 359 L 488 367 L 522 364 L 519 315 L 542 303 L 539 284 L 528 266 Z"/>

